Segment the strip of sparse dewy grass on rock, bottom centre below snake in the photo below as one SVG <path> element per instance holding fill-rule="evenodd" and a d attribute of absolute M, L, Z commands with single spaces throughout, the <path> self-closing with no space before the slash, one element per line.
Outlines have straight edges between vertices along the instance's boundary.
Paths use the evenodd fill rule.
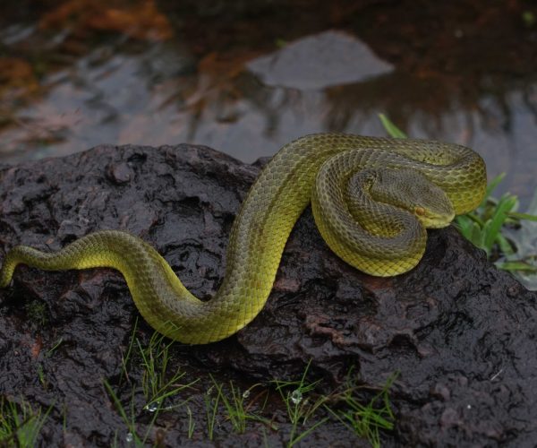
<path fill-rule="evenodd" d="M 165 411 L 175 412 L 173 418 L 177 418 L 176 413 L 187 418 L 184 430 L 189 439 L 216 441 L 229 433 L 241 435 L 250 430 L 263 434 L 267 443 L 268 432 L 278 433 L 290 448 L 327 423 L 341 424 L 375 447 L 379 446 L 380 432 L 393 428 L 388 390 L 395 376 L 390 376 L 363 404 L 364 397 L 371 396 L 371 388 L 361 388 L 349 374 L 343 387 L 322 393 L 321 380 L 310 380 L 311 363 L 296 380 L 274 379 L 246 387 L 234 381 L 220 381 L 214 375 L 208 375 L 209 383 L 201 378 L 185 381 L 185 374 L 171 367 L 170 349 L 175 342 L 166 343 L 156 332 L 145 346 L 135 332 L 124 358 L 123 377 L 129 378 L 130 394 L 128 388 L 123 389 L 121 400 L 115 388 L 104 381 L 110 401 L 125 425 L 115 434 L 115 446 L 124 441 L 135 446 L 149 444 L 149 435 L 155 434 L 155 426 Z M 140 362 L 133 362 L 135 359 Z M 139 380 L 134 381 L 134 377 Z M 141 397 L 146 403 L 143 406 Z M 165 400 L 175 404 L 163 406 Z"/>

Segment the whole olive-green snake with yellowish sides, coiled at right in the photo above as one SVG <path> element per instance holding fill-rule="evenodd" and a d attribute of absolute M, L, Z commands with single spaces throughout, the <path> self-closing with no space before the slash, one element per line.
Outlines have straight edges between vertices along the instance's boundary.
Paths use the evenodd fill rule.
<path fill-rule="evenodd" d="M 144 319 L 190 344 L 222 340 L 260 313 L 287 238 L 311 202 L 328 246 L 376 276 L 409 271 L 422 258 L 428 228 L 473 210 L 486 188 L 474 151 L 426 140 L 312 134 L 286 144 L 251 186 L 234 220 L 226 276 L 215 297 L 200 301 L 155 249 L 116 230 L 91 233 L 55 253 L 15 246 L 0 287 L 17 264 L 44 270 L 110 267 L 121 271 Z"/>

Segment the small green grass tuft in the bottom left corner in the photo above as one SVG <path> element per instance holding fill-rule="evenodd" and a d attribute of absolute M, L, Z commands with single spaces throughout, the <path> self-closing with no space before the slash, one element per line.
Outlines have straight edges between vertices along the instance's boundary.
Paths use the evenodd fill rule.
<path fill-rule="evenodd" d="M 42 412 L 33 409 L 29 402 L 21 404 L 0 399 L 0 445 L 6 447 L 26 448 L 38 444 L 38 437 L 47 420 L 52 405 Z"/>

